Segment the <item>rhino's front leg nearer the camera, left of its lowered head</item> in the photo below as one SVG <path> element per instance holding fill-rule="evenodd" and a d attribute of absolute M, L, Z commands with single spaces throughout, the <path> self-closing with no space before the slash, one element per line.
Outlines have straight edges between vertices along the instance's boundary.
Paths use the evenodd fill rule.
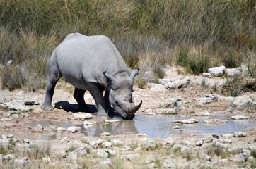
<path fill-rule="evenodd" d="M 103 89 L 100 85 L 91 83 L 88 84 L 89 92 L 95 100 L 96 107 L 98 109 L 98 115 L 107 115 L 107 106 L 103 97 Z"/>

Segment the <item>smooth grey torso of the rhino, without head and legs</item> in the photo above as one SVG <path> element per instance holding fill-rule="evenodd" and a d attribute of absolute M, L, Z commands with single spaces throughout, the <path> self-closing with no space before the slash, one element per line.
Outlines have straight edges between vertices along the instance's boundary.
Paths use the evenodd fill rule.
<path fill-rule="evenodd" d="M 127 66 L 119 51 L 105 36 L 71 34 L 56 49 L 59 70 L 64 78 L 80 89 L 87 82 L 96 82 L 106 87 L 103 75 L 127 72 Z"/>

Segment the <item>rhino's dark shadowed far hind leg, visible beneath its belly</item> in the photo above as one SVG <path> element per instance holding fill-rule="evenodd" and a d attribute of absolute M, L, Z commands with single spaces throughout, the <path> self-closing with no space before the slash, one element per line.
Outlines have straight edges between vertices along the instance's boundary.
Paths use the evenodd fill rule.
<path fill-rule="evenodd" d="M 85 90 L 75 88 L 73 96 L 74 99 L 76 99 L 76 102 L 78 103 L 79 111 L 91 113 L 91 108 L 86 104 L 86 101 L 84 101 L 85 92 Z"/>

